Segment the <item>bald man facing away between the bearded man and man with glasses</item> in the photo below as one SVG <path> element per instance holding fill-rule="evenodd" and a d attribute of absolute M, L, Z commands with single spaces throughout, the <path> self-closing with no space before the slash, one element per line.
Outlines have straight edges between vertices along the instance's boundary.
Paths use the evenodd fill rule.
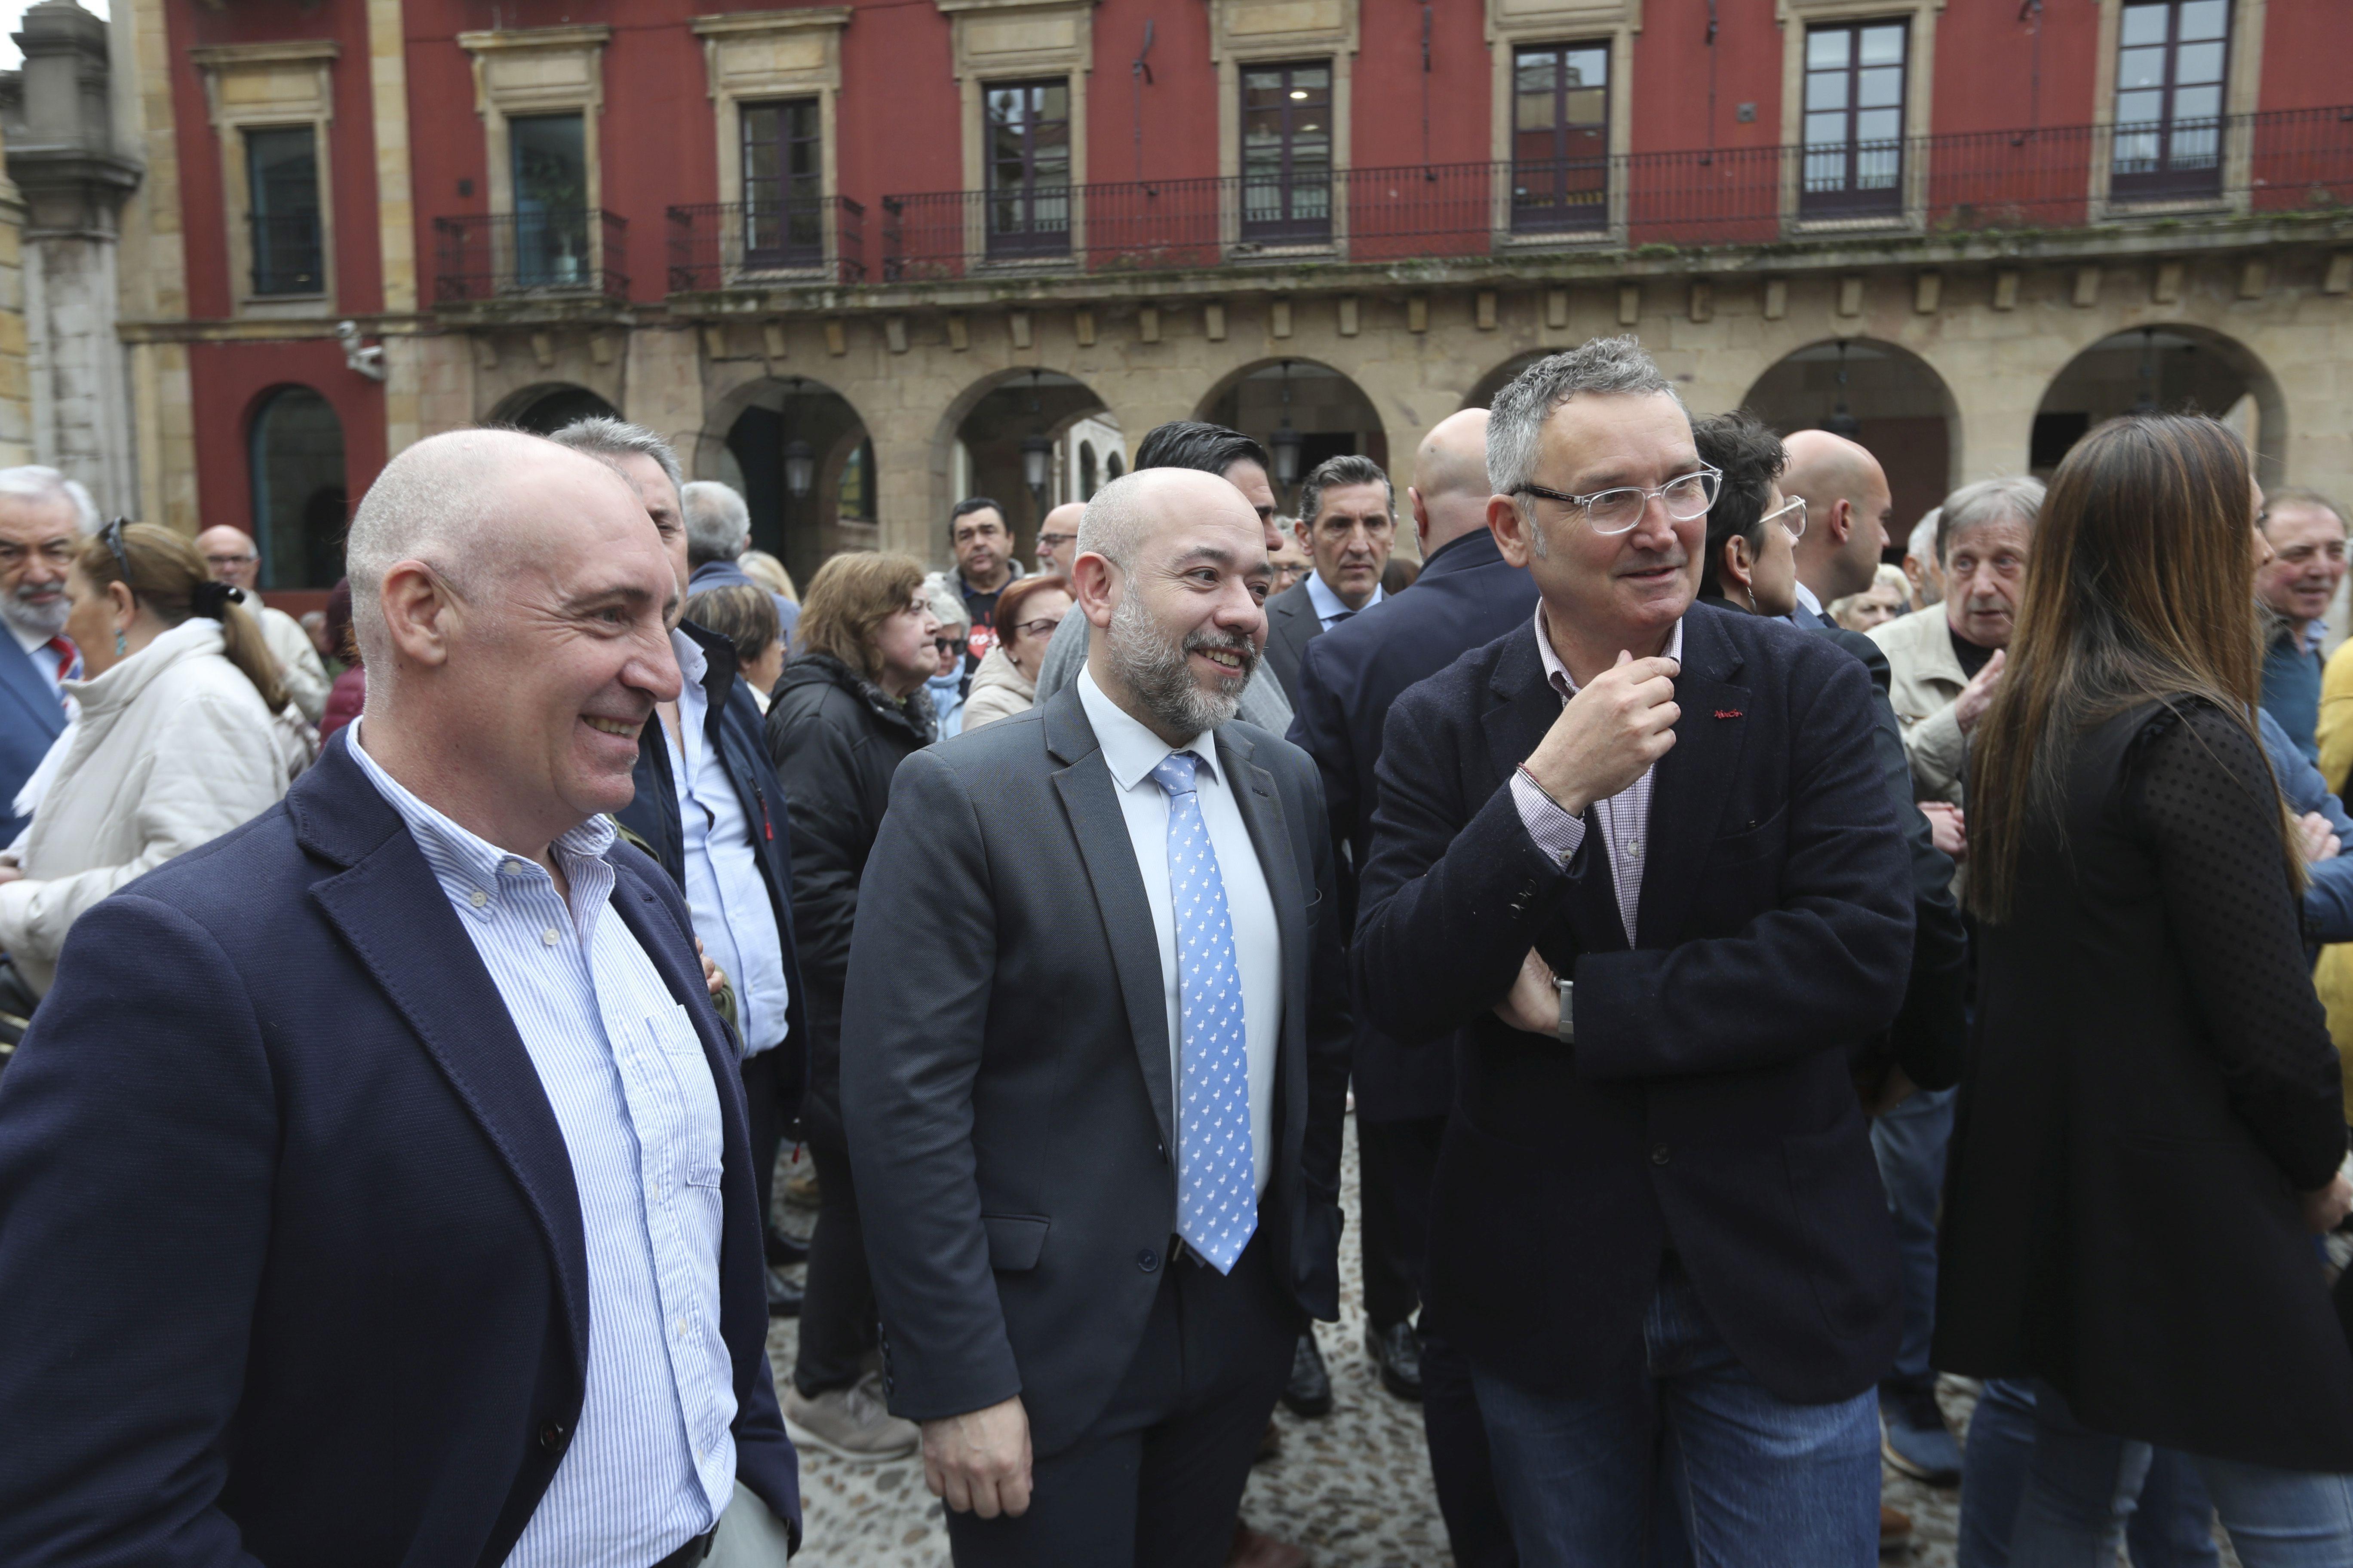
<path fill-rule="evenodd" d="M 1487 409 L 1464 409 L 1414 451 L 1405 496 L 1421 538 L 1421 578 L 1306 644 L 1292 743 L 1315 757 L 1341 867 L 1341 931 L 1355 929 L 1355 867 L 1372 846 L 1381 719 L 1419 679 L 1461 654 L 1525 628 L 1534 581 L 1504 562 L 1487 531 Z M 1487 1434 L 1471 1396 L 1471 1368 L 1445 1328 L 1421 1314 L 1431 1180 L 1438 1138 L 1454 1103 L 1454 1063 L 1384 1037 L 1358 1016 L 1351 1072 L 1362 1150 L 1365 1312 L 1381 1380 L 1398 1392 L 1412 1359 L 1431 1439 L 1438 1507 L 1461 1568 L 1515 1563 L 1511 1530 L 1487 1465 Z"/>

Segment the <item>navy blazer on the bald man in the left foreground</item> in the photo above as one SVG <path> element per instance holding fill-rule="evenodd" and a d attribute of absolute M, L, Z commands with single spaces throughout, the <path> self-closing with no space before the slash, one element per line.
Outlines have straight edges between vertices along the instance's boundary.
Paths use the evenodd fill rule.
<path fill-rule="evenodd" d="M 348 733 L 82 914 L 0 1074 L 0 1563 L 494 1568 L 562 1462 L 562 1133 Z M 725 1107 L 736 1476 L 798 1537 L 734 1048 L 678 889 L 607 858 Z"/>

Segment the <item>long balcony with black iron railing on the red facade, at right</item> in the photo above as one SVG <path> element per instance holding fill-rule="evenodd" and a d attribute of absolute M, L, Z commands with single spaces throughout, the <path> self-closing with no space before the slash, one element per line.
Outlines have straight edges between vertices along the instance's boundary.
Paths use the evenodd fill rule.
<path fill-rule="evenodd" d="M 882 282 L 2085 230 L 2353 202 L 2353 108 L 882 197 Z"/>

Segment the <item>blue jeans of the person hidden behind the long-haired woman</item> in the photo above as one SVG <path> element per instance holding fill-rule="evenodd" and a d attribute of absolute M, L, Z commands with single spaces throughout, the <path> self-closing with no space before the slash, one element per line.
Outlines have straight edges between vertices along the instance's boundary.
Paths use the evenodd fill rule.
<path fill-rule="evenodd" d="M 1960 1472 L 1958 1568 L 2009 1568 L 2009 1533 L 2035 1462 L 2035 1385 L 1993 1378 L 1969 1418 Z M 2214 1505 L 2186 1453 L 2155 1448 L 2137 1500 L 2127 1500 L 2132 1568 L 2214 1568 Z"/>

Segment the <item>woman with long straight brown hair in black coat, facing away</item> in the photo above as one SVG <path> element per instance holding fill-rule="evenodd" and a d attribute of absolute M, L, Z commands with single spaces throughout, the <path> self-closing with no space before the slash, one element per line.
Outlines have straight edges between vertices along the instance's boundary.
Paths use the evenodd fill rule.
<path fill-rule="evenodd" d="M 2035 1380 L 2014 1568 L 2113 1563 L 2151 1446 L 2247 1568 L 2353 1563 L 2353 1352 L 2313 1248 L 2353 1187 L 2252 717 L 2257 505 L 2209 418 L 2087 435 L 1977 726 L 1934 1361 Z"/>

